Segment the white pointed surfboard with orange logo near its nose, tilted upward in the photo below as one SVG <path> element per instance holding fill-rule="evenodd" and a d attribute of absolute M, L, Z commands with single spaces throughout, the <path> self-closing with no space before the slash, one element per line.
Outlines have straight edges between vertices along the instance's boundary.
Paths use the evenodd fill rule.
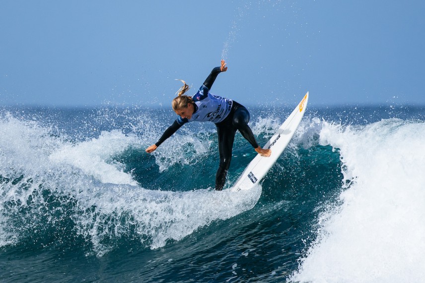
<path fill-rule="evenodd" d="M 272 168 L 281 156 L 283 150 L 294 135 L 302 117 L 304 116 L 307 102 L 308 92 L 292 113 L 286 118 L 272 138 L 263 147 L 271 149 L 272 154 L 269 157 L 262 157 L 258 154 L 250 162 L 250 164 L 248 164 L 246 169 L 237 179 L 236 183 L 230 188 L 231 191 L 249 190 L 263 179 L 270 168 Z"/>

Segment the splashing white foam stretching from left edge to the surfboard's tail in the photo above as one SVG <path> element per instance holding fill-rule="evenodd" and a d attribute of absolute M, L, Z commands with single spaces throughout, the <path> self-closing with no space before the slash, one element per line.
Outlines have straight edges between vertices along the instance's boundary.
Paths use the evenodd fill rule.
<path fill-rule="evenodd" d="M 129 146 L 146 147 L 136 136 L 117 130 L 71 143 L 36 122 L 1 118 L 0 175 L 9 180 L 0 183 L 0 207 L 7 207 L 0 216 L 0 245 L 19 243 L 22 231 L 51 229 L 62 217 L 70 217 L 72 230 L 91 243 L 98 256 L 113 249 L 121 237 L 158 248 L 247 211 L 260 198 L 260 186 L 242 193 L 144 189 L 112 161 Z M 58 208 L 68 210 L 61 211 L 61 219 L 49 211 L 43 190 L 65 202 Z M 12 220 L 21 208 L 35 212 L 18 215 L 31 218 L 24 221 L 26 226 Z"/>

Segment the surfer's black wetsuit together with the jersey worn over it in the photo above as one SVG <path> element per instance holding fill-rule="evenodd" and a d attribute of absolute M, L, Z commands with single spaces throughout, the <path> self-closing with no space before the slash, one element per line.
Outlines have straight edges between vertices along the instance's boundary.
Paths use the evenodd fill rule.
<path fill-rule="evenodd" d="M 192 114 L 192 118 L 188 120 L 187 118 L 182 119 L 179 116 L 174 123 L 165 130 L 158 142 L 155 143 L 156 146 L 159 146 L 187 122 L 195 120 L 206 121 L 207 119 L 213 122 L 218 121 L 215 123 L 215 126 L 218 135 L 220 164 L 215 175 L 216 190 L 222 190 L 224 187 L 227 171 L 232 159 L 232 148 L 236 131 L 238 130 L 254 148 L 258 147 L 254 134 L 248 126 L 250 119 L 248 110 L 235 101 L 214 96 L 210 93 L 215 78 L 219 73 L 220 67 L 213 68 L 200 90 L 193 96 L 194 113 Z M 211 100 L 209 101 L 209 106 L 216 106 L 216 111 L 211 111 L 209 113 L 205 112 L 204 108 L 207 109 L 207 106 L 203 105 L 202 102 L 208 99 Z M 198 105 L 202 107 L 202 109 L 199 109 Z M 207 114 L 204 115 L 204 113 Z M 201 116 L 199 114 L 201 114 Z"/>

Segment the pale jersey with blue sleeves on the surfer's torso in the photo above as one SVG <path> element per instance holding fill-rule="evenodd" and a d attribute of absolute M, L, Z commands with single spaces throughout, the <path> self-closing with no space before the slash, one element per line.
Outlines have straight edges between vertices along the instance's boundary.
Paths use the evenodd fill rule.
<path fill-rule="evenodd" d="M 202 85 L 199 91 L 192 97 L 196 107 L 190 119 L 178 116 L 177 122 L 182 125 L 187 122 L 219 123 L 224 120 L 232 109 L 233 101 L 228 98 L 213 95 L 210 90 Z"/>

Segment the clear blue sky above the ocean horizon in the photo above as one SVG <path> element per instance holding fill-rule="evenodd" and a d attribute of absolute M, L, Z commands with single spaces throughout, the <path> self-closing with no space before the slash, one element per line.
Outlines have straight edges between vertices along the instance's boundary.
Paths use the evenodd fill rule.
<path fill-rule="evenodd" d="M 424 1 L 0 1 L 0 105 L 425 105 Z"/>

